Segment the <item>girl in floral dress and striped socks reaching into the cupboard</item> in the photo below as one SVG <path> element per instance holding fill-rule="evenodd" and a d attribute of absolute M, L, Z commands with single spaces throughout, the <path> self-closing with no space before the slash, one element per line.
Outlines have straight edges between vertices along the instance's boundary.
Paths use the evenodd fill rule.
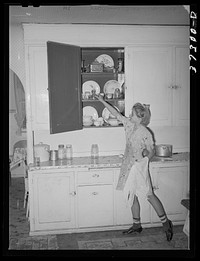
<path fill-rule="evenodd" d="M 173 237 L 172 222 L 167 218 L 161 201 L 153 191 L 151 177 L 149 170 L 147 170 L 148 163 L 154 156 L 152 134 L 146 128 L 151 117 L 149 106 L 136 103 L 132 108 L 130 117 L 127 118 L 109 103 L 104 101 L 101 95 L 96 96 L 96 98 L 104 104 L 113 116 L 122 122 L 125 129 L 126 148 L 116 189 L 123 190 L 127 201 L 131 203 L 133 225 L 129 229 L 123 231 L 123 233 L 140 233 L 142 231 L 140 203 L 138 199 L 138 191 L 141 190 L 141 186 L 138 184 L 142 184 L 142 189 L 147 200 L 153 206 L 163 224 L 163 230 L 167 240 L 171 241 Z M 144 169 L 145 171 L 141 175 L 138 174 L 141 173 L 137 171 L 138 169 Z"/>

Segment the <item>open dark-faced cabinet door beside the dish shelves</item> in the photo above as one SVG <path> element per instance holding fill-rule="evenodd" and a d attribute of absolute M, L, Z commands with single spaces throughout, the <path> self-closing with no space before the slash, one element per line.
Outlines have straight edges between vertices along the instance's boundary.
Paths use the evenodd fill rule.
<path fill-rule="evenodd" d="M 82 129 L 79 46 L 47 42 L 50 133 Z"/>

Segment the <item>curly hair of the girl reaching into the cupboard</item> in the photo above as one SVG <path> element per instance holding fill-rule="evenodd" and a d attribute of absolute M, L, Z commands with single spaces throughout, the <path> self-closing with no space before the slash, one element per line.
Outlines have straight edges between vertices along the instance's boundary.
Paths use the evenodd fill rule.
<path fill-rule="evenodd" d="M 147 126 L 150 123 L 150 118 L 151 118 L 151 112 L 149 109 L 150 105 L 147 104 L 141 104 L 137 102 L 136 104 L 133 105 L 132 111 L 134 110 L 137 117 L 141 118 L 141 124 L 144 126 Z"/>

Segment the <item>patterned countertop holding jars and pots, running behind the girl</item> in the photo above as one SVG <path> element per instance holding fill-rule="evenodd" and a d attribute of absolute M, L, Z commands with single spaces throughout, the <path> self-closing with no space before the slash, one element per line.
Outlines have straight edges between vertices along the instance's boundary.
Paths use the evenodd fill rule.
<path fill-rule="evenodd" d="M 174 153 L 170 158 L 156 157 L 151 160 L 151 164 L 168 164 L 169 162 L 189 161 L 189 152 Z M 72 160 L 56 160 L 40 162 L 38 165 L 30 164 L 29 171 L 42 169 L 60 169 L 60 168 L 117 168 L 122 164 L 122 157 L 119 155 L 100 156 L 98 159 L 91 157 L 74 157 Z"/>

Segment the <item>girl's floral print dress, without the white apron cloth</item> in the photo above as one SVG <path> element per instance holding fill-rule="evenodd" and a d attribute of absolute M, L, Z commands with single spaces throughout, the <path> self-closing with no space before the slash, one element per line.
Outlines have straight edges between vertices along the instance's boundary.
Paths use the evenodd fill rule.
<path fill-rule="evenodd" d="M 126 148 L 116 187 L 117 190 L 123 190 L 133 164 L 143 159 L 144 149 L 153 149 L 154 142 L 152 134 L 145 126 L 136 126 L 122 115 L 118 115 L 117 119 L 123 123 L 126 135 Z"/>

